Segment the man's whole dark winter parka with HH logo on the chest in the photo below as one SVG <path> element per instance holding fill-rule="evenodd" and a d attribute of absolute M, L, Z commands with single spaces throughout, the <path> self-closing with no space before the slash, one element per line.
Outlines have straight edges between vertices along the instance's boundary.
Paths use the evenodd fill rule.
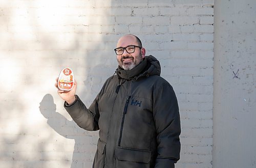
<path fill-rule="evenodd" d="M 180 158 L 180 117 L 175 92 L 160 77 L 152 55 L 131 70 L 120 67 L 87 108 L 65 108 L 83 129 L 99 130 L 95 168 L 174 167 Z"/>

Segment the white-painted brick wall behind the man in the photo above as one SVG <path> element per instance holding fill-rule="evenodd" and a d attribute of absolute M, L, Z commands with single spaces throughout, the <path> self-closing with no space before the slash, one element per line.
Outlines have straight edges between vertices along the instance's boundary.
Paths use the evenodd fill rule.
<path fill-rule="evenodd" d="M 98 132 L 82 130 L 54 88 L 71 67 L 90 105 L 132 33 L 157 57 L 181 116 L 177 167 L 212 167 L 213 0 L 0 2 L 0 164 L 90 167 Z"/>

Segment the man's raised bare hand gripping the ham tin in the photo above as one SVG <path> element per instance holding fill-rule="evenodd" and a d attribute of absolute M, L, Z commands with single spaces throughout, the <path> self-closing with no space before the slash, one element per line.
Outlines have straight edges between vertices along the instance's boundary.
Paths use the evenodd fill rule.
<path fill-rule="evenodd" d="M 77 87 L 77 82 L 75 80 L 74 82 L 74 87 L 70 90 L 70 91 L 62 91 L 58 88 L 58 78 L 56 78 L 56 82 L 55 82 L 55 87 L 58 89 L 58 95 L 59 97 L 61 97 L 61 99 L 65 100 L 68 104 L 72 104 L 76 98 L 75 98 L 75 94 L 76 94 L 76 87 Z"/>

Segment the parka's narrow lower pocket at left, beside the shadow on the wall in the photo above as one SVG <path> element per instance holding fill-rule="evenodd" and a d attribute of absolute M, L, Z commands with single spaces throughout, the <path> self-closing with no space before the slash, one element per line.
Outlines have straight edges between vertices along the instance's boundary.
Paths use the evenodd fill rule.
<path fill-rule="evenodd" d="M 94 162 L 93 162 L 93 167 L 97 167 L 97 168 L 104 167 L 105 146 L 106 146 L 106 143 L 100 141 L 99 139 L 97 144 L 97 151 L 96 151 Z"/>

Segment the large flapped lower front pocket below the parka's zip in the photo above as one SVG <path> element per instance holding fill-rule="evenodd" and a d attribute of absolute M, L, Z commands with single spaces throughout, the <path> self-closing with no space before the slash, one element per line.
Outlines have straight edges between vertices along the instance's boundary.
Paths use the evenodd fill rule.
<path fill-rule="evenodd" d="M 116 167 L 148 168 L 151 151 L 116 147 Z"/>

